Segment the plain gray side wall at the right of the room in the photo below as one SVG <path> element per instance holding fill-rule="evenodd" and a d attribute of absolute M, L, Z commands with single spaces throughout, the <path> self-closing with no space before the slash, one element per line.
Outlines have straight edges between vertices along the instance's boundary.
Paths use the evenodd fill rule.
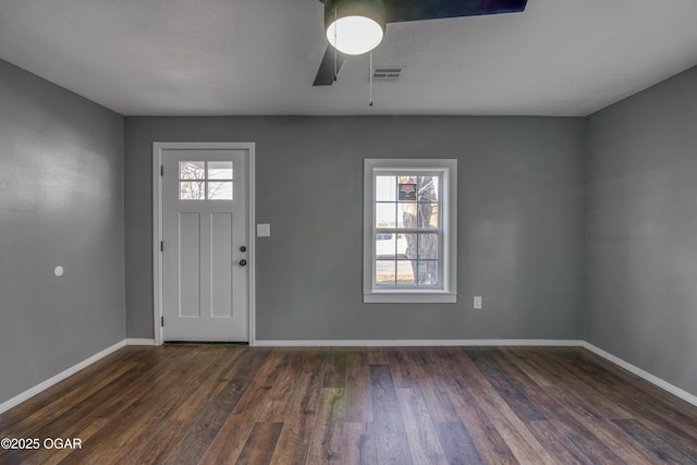
<path fill-rule="evenodd" d="M 587 123 L 584 336 L 697 393 L 697 69 Z"/>

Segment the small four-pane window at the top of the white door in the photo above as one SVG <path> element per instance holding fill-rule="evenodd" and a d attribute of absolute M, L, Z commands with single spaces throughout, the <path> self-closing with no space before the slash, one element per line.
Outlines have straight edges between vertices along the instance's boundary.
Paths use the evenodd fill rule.
<path fill-rule="evenodd" d="M 232 161 L 180 161 L 180 200 L 232 200 Z"/>

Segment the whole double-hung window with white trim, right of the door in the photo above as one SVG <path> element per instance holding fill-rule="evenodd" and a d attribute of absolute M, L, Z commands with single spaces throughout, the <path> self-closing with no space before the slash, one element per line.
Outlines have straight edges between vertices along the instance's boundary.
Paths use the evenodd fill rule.
<path fill-rule="evenodd" d="M 457 160 L 365 160 L 364 302 L 455 302 L 456 201 Z"/>

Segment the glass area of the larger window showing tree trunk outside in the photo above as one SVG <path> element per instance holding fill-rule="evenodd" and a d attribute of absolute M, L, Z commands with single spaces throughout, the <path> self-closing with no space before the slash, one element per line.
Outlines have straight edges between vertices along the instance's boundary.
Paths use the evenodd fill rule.
<path fill-rule="evenodd" d="M 438 175 L 376 176 L 375 284 L 435 286 L 439 280 Z"/>

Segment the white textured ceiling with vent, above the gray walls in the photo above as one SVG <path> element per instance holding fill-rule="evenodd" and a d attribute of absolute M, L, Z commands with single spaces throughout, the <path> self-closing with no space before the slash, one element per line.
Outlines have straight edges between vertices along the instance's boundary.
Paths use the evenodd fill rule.
<path fill-rule="evenodd" d="M 463 0 L 465 1 L 465 0 Z M 0 58 L 125 115 L 586 115 L 697 64 L 695 0 L 528 0 L 388 25 L 376 83 L 311 83 L 318 0 L 0 0 Z"/>

